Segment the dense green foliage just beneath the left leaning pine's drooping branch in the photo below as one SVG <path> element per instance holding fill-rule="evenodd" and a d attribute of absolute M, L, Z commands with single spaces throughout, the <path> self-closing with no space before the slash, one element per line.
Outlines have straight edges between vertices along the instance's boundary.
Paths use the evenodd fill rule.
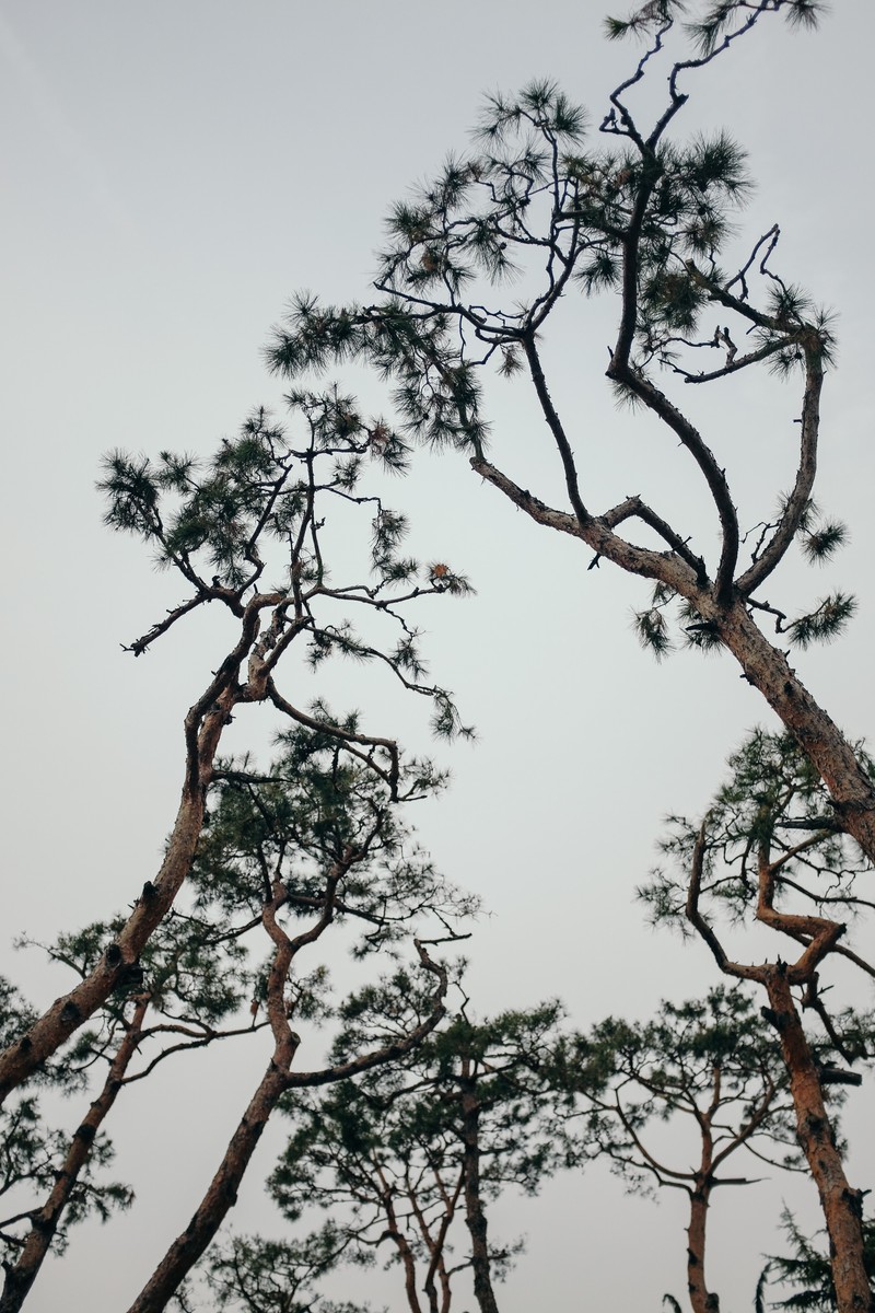
<path fill-rule="evenodd" d="M 317 720 L 350 733 L 357 723 L 324 706 Z M 374 754 L 319 730 L 287 730 L 278 746 L 264 773 L 245 760 L 216 771 L 192 871 L 197 911 L 254 915 L 281 888 L 283 909 L 310 916 L 338 863 L 335 919 L 362 927 L 361 953 L 408 936 L 421 916 L 449 924 L 476 911 L 478 901 L 447 884 L 417 847 L 394 801 L 442 788 L 445 776 L 430 762 L 407 760 L 390 783 Z"/>

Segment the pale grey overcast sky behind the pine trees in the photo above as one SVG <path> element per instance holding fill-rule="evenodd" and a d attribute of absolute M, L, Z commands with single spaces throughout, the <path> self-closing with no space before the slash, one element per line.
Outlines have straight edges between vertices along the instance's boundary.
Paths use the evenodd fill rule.
<path fill-rule="evenodd" d="M 207 453 L 253 404 L 278 404 L 282 386 L 260 348 L 287 298 L 299 288 L 367 297 L 383 213 L 464 148 L 481 92 L 548 76 L 598 121 L 632 58 L 602 41 L 602 16 L 601 0 L 0 4 L 0 969 L 34 999 L 63 981 L 13 956 L 12 937 L 47 939 L 108 915 L 153 874 L 178 797 L 181 721 L 218 650 L 205 621 L 140 660 L 121 651 L 181 592 L 139 545 L 102 528 L 101 453 Z M 817 35 L 763 22 L 689 80 L 685 113 L 686 130 L 727 123 L 748 147 L 758 185 L 744 234 L 778 221 L 781 270 L 841 312 L 819 500 L 849 523 L 850 546 L 829 571 L 790 569 L 769 600 L 792 609 L 829 586 L 858 592 L 847 635 L 796 666 L 849 734 L 870 739 L 872 49 L 871 0 L 837 0 Z M 573 307 L 568 332 L 550 343 L 590 502 L 641 492 L 698 528 L 701 494 L 681 454 L 648 420 L 613 407 L 602 377 L 613 310 Z M 349 386 L 374 410 L 384 404 L 373 379 L 356 374 Z M 791 479 L 798 391 L 750 379 L 694 400 L 735 474 L 743 519 L 756 523 Z M 497 398 L 491 418 L 497 463 L 559 499 L 525 389 Z M 648 930 L 632 890 L 655 860 L 661 818 L 704 805 L 745 730 L 770 723 L 765 704 L 728 656 L 655 664 L 630 628 L 645 588 L 610 567 L 588 572 L 586 551 L 523 520 L 463 458 L 417 458 L 392 499 L 409 508 L 415 550 L 450 561 L 478 588 L 428 613 L 425 650 L 480 739 L 434 750 L 454 785 L 416 817 L 437 864 L 491 914 L 470 949 L 475 1006 L 560 995 L 588 1024 L 703 993 L 715 978 L 704 948 Z M 390 696 L 359 668 L 337 688 L 376 733 L 429 746 L 418 700 Z M 266 714 L 247 722 L 256 746 L 269 733 Z M 261 1070 L 261 1054 L 251 1061 Z M 209 1075 L 194 1074 L 195 1061 L 171 1066 L 164 1085 L 144 1082 L 112 1119 L 117 1175 L 135 1184 L 136 1208 L 73 1233 L 34 1289 L 33 1313 L 126 1308 L 188 1221 L 252 1075 L 218 1054 Z M 146 1104 L 159 1095 L 161 1124 L 150 1124 Z M 867 1107 L 871 1090 L 851 1094 L 850 1175 L 862 1187 L 875 1173 Z M 71 1106 L 71 1124 L 76 1113 Z M 235 1225 L 274 1228 L 258 1173 L 279 1140 L 279 1129 L 266 1137 Z M 659 1205 L 630 1200 L 593 1173 L 495 1209 L 496 1230 L 529 1234 L 502 1310 L 655 1309 L 666 1289 L 683 1299 L 683 1203 L 670 1194 Z M 790 1178 L 718 1196 L 711 1283 L 727 1310 L 752 1304 L 781 1199 L 813 1225 L 812 1196 Z M 337 1288 L 400 1309 L 396 1281 Z"/>

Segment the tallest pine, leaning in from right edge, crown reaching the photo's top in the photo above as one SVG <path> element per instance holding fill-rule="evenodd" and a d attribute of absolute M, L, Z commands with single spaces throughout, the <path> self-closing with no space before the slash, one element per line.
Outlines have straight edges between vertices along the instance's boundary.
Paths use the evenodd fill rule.
<path fill-rule="evenodd" d="M 875 860 L 872 780 L 787 651 L 833 638 L 854 600 L 834 591 L 791 614 L 763 597 L 794 548 L 823 562 L 846 537 L 813 502 L 830 318 L 777 270 L 778 225 L 740 255 L 732 249 L 750 186 L 743 150 L 725 131 L 677 135 L 698 74 L 771 16 L 804 28 L 820 11 L 816 0 L 647 0 L 626 20 L 609 18 L 607 35 L 638 38 L 643 53 L 597 118 L 601 144 L 588 142 L 586 114 L 550 81 L 487 97 L 475 148 L 450 156 L 391 207 L 375 299 L 336 307 L 299 295 L 268 357 L 289 378 L 350 357 L 370 364 L 394 383 L 404 432 L 463 452 L 518 511 L 577 540 L 589 567 L 605 562 L 649 580 L 649 604 L 636 618 L 641 641 L 657 656 L 677 639 L 732 653 Z M 636 93 L 657 70 L 665 92 L 655 110 L 652 100 L 638 110 Z M 571 421 L 560 416 L 551 349 L 580 331 L 575 299 L 603 294 L 617 305 L 606 376 L 655 440 L 665 440 L 666 487 L 630 496 L 636 475 L 623 463 L 619 500 L 596 507 L 588 487 L 603 474 L 609 439 L 589 432 L 586 394 L 575 398 L 565 378 L 576 403 Z M 798 424 L 796 467 L 788 490 L 760 488 L 740 512 L 737 444 L 699 431 L 693 395 L 720 390 L 724 410 L 739 404 L 748 425 L 743 402 L 758 370 L 798 381 L 787 420 Z M 531 385 L 565 504 L 548 504 L 491 453 L 489 441 L 501 450 L 501 435 L 489 431 L 487 398 L 514 374 Z M 689 523 L 660 508 L 678 446 L 704 511 Z"/>

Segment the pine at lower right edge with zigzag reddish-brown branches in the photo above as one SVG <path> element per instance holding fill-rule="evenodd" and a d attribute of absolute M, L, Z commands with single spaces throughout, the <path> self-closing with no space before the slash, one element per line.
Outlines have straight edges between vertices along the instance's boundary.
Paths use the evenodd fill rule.
<path fill-rule="evenodd" d="M 871 771 L 862 747 L 858 755 Z M 824 976 L 841 960 L 875 978 L 871 955 L 845 943 L 854 922 L 871 919 L 874 905 L 859 892 L 871 863 L 788 735 L 757 730 L 729 758 L 729 772 L 701 822 L 672 818 L 662 843 L 672 865 L 640 893 L 656 922 L 698 934 L 724 974 L 765 990 L 762 1012 L 777 1033 L 796 1134 L 829 1233 L 838 1308 L 867 1309 L 862 1194 L 845 1174 L 824 1091 L 861 1083 L 849 1065 L 875 1056 L 875 1024 L 871 1015 L 832 1003 Z M 724 947 L 727 932 L 737 936 L 754 924 L 782 936 L 766 961 L 745 961 Z M 795 952 L 784 960 L 788 944 Z M 817 1019 L 823 1041 L 805 1031 L 803 1011 Z"/>

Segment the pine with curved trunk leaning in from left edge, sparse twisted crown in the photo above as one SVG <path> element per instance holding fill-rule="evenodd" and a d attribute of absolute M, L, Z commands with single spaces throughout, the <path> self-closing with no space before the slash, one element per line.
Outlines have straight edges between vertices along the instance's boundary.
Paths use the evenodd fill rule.
<path fill-rule="evenodd" d="M 273 708 L 281 723 L 317 731 L 362 762 L 387 786 L 390 800 L 397 800 L 400 754 L 391 738 L 366 733 L 356 716 L 335 723 L 319 701 L 304 708 L 283 696 L 278 671 L 290 649 L 302 651 L 314 668 L 332 656 L 379 663 L 430 701 L 437 734 L 471 734 L 450 693 L 425 681 L 418 632 L 407 620 L 420 596 L 462 596 L 470 584 L 449 567 L 436 578 L 428 566 L 403 557 L 404 516 L 362 487 L 371 457 L 388 473 L 404 469 L 404 442 L 336 390 L 298 391 L 287 406 L 289 428 L 261 408 L 236 440 L 223 439 L 205 462 L 172 452 L 156 458 L 114 452 L 105 460 L 98 486 L 106 524 L 140 538 L 159 569 L 174 571 L 188 593 L 126 650 L 142 656 L 206 607 L 223 609 L 236 637 L 219 650 L 185 716 L 182 796 L 155 880 L 146 882 L 91 973 L 0 1053 L 0 1099 L 105 1003 L 167 916 L 192 869 L 222 735 L 235 716 L 253 704 Z M 336 508 L 335 523 L 341 508 L 367 516 L 367 541 L 345 583 L 331 575 L 331 544 L 338 536 L 328 524 L 328 506 Z M 352 616 L 363 613 L 378 617 L 376 639 L 357 632 Z"/>

